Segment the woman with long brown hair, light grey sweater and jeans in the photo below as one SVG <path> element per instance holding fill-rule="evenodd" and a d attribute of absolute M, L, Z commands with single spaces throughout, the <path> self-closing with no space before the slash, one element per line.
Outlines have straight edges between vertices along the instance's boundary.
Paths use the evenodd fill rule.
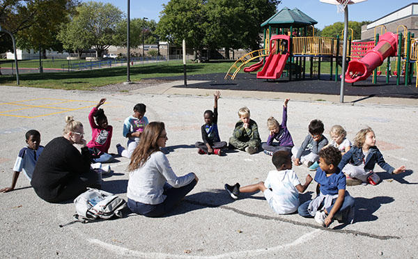
<path fill-rule="evenodd" d="M 192 191 L 198 178 L 194 173 L 177 177 L 169 160 L 161 152 L 167 143 L 164 123 L 153 122 L 145 127 L 141 141 L 131 156 L 127 168 L 127 206 L 146 217 L 167 214 Z"/>

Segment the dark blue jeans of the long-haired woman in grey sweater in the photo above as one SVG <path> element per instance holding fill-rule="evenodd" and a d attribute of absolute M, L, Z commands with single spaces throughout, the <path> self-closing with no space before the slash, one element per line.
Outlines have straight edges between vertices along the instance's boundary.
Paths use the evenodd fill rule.
<path fill-rule="evenodd" d="M 146 204 L 127 198 L 127 207 L 134 213 L 144 215 L 146 217 L 160 217 L 167 214 L 185 197 L 196 185 L 196 180 L 192 180 L 188 185 L 180 188 L 173 188 L 170 185 L 164 185 L 163 194 L 167 196 L 162 203 Z"/>

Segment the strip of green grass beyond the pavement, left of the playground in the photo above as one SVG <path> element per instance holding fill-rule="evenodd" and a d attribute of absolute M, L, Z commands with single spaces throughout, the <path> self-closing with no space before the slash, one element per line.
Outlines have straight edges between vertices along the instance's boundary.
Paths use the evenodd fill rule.
<path fill-rule="evenodd" d="M 232 63 L 188 63 L 187 74 L 226 73 Z M 183 74 L 181 61 L 149 63 L 134 65 L 130 68 L 131 81 L 140 81 L 145 78 L 171 77 Z M 20 86 L 91 90 L 107 84 L 118 84 L 126 81 L 126 67 L 103 68 L 77 72 L 54 72 L 20 74 Z M 0 85 L 15 86 L 16 77 L 11 75 L 0 76 Z"/>

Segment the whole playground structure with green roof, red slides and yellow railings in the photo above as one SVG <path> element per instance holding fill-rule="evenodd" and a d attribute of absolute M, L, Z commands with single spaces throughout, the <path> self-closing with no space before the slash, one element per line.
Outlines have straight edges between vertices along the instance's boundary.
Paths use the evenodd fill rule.
<path fill-rule="evenodd" d="M 286 70 L 286 76 L 288 80 L 292 79 L 305 79 L 307 72 L 309 77 L 317 77 L 320 79 L 320 67 L 321 63 L 330 63 L 330 80 L 337 81 L 339 78 L 339 69 L 342 65 L 342 54 L 343 54 L 343 40 L 339 36 L 336 38 L 318 37 L 314 36 L 314 26 L 305 21 L 303 26 L 300 24 L 297 27 L 297 36 L 294 36 L 293 26 L 289 29 L 281 27 L 276 28 L 276 34 L 272 35 L 271 22 L 274 17 L 280 15 L 280 13 L 294 12 L 302 13 L 300 10 L 295 8 L 289 10 L 288 8 L 282 9 L 279 13 L 270 17 L 268 21 L 262 24 L 262 26 L 269 25 L 265 29 L 265 47 L 264 49 L 258 49 L 254 52 L 242 56 L 240 59 L 235 61 L 229 71 L 225 75 L 225 79 L 235 79 L 238 72 L 244 68 L 244 72 L 256 72 L 261 69 L 261 72 L 257 72 L 257 78 L 259 79 L 278 79 L 283 77 L 284 70 Z M 302 15 L 300 15 L 302 17 Z M 309 22 L 314 23 L 313 19 L 309 18 Z M 299 21 L 300 23 L 300 21 Z M 285 25 L 290 24 L 289 22 Z M 379 34 L 376 33 L 376 29 L 380 27 L 382 36 L 379 38 Z M 302 30 L 304 28 L 304 30 Z M 312 28 L 312 36 L 307 36 L 308 28 Z M 403 33 L 399 32 L 398 29 L 402 28 Z M 301 33 L 300 33 L 301 29 Z M 414 35 L 408 32 L 406 26 L 400 25 L 395 33 L 386 32 L 386 28 L 383 25 L 377 26 L 375 29 L 375 40 L 371 42 L 353 42 L 353 30 L 351 30 L 351 37 L 347 39 L 347 52 L 346 52 L 346 63 L 348 68 L 345 72 L 346 82 L 355 83 L 367 79 L 373 74 L 373 84 L 377 84 L 378 75 L 382 74 L 380 66 L 386 60 L 386 83 L 389 83 L 389 77 L 392 76 L 391 70 L 391 58 L 395 58 L 395 69 L 393 75 L 396 77 L 396 84 L 401 84 L 401 76 L 404 77 L 405 85 L 412 84 L 412 77 L 415 74 L 414 64 L 416 64 L 416 70 L 418 73 L 418 38 L 413 38 Z M 288 33 L 288 53 L 286 61 L 283 58 L 283 54 L 272 54 L 276 52 L 274 49 L 273 41 L 278 39 L 283 40 L 285 37 L 284 33 Z M 305 36 L 299 36 L 304 34 Z M 272 43 L 272 44 L 270 44 Z M 277 45 L 277 44 L 276 44 Z M 271 59 L 270 57 L 276 58 Z M 281 58 L 280 58 L 281 57 Z M 307 58 L 309 58 L 310 68 L 307 66 Z M 280 65 L 278 66 L 277 61 L 281 59 Z M 245 67 L 249 62 L 259 60 L 258 63 Z M 334 65 L 335 64 L 335 65 Z M 272 71 L 277 70 L 279 73 L 272 74 Z M 280 71 L 279 71 L 280 70 Z M 334 71 L 333 71 L 334 70 Z M 266 71 L 270 71 L 268 74 Z M 280 74 L 279 77 L 277 75 Z M 418 86 L 418 80 L 416 80 L 416 86 Z"/>

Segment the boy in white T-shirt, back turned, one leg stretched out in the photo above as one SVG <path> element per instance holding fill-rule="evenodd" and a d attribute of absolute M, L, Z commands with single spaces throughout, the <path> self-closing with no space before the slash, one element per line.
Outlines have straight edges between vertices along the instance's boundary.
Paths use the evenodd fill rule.
<path fill-rule="evenodd" d="M 299 192 L 304 192 L 312 182 L 311 175 L 307 175 L 304 185 L 300 184 L 295 171 L 292 170 L 292 160 L 288 152 L 279 150 L 274 152 L 272 163 L 276 170 L 268 172 L 265 182 L 258 182 L 254 185 L 240 187 L 237 182 L 235 185 L 225 185 L 226 191 L 236 200 L 242 192 L 251 193 L 263 191 L 268 204 L 279 214 L 293 213 L 299 207 Z"/>

